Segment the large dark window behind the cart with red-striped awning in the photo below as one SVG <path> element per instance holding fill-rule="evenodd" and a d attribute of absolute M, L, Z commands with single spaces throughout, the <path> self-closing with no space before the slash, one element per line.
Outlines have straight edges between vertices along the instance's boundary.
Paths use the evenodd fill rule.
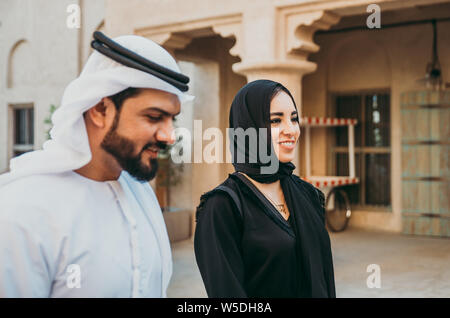
<path fill-rule="evenodd" d="M 391 205 L 390 94 L 371 92 L 333 96 L 334 116 L 356 118 L 355 169 L 360 183 L 343 187 L 359 207 Z M 332 169 L 349 175 L 347 127 L 335 128 Z"/>

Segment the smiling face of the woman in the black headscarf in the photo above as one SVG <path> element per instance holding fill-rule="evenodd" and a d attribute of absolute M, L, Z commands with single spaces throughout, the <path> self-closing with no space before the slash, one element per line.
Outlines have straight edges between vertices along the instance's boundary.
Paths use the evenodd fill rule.
<path fill-rule="evenodd" d="M 300 137 L 297 110 L 291 97 L 280 91 L 270 102 L 272 143 L 280 162 L 294 160 L 294 149 Z"/>

